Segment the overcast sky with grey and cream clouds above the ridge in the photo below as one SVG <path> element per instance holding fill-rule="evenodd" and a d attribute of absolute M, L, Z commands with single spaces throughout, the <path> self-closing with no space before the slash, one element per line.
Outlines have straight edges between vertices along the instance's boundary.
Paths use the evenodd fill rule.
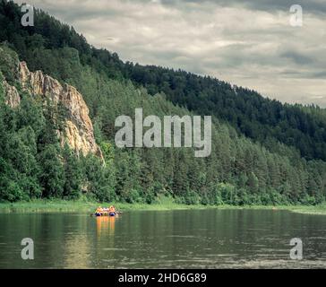
<path fill-rule="evenodd" d="M 25 0 L 123 60 L 326 107 L 325 0 Z M 303 25 L 290 24 L 300 4 Z"/>

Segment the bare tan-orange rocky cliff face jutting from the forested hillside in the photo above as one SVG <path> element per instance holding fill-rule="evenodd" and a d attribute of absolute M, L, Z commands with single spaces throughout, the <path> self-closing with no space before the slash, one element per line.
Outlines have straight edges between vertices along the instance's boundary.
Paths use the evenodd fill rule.
<path fill-rule="evenodd" d="M 62 85 L 41 71 L 30 72 L 25 62 L 21 62 L 17 69 L 22 90 L 28 91 L 31 96 L 39 95 L 44 100 L 51 100 L 55 106 L 61 104 L 66 109 L 65 133 L 60 135 L 61 143 L 68 143 L 77 154 L 82 152 L 86 155 L 91 152 L 103 159 L 102 152 L 95 142 L 89 109 L 82 99 L 82 94 L 73 86 Z M 5 81 L 4 95 L 8 105 L 13 108 L 19 106 L 19 92 Z"/>

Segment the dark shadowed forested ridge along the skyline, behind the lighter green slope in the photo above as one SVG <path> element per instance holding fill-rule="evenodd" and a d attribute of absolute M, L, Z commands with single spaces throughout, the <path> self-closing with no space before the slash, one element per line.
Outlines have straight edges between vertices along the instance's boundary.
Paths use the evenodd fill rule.
<path fill-rule="evenodd" d="M 74 48 L 82 65 L 90 65 L 99 74 L 130 79 L 136 86 L 146 87 L 151 95 L 164 92 L 173 103 L 200 115 L 214 115 L 271 151 L 276 141 L 295 147 L 307 160 L 326 161 L 325 122 L 317 113 L 306 113 L 300 106 L 265 99 L 255 91 L 214 78 L 123 63 L 116 53 L 91 47 L 73 28 L 42 11 L 35 15 L 35 26 L 27 28 L 20 25 L 18 5 L 1 0 L 0 14 L 0 41 L 9 41 L 33 71 L 42 70 L 67 82 L 70 71 L 63 68 L 55 54 L 63 48 Z"/>

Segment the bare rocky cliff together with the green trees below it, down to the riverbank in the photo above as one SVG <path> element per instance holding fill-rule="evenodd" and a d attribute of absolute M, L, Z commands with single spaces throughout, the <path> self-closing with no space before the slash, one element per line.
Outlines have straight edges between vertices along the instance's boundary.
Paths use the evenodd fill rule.
<path fill-rule="evenodd" d="M 0 47 L 0 201 L 115 198 L 88 114 L 75 88 Z"/>

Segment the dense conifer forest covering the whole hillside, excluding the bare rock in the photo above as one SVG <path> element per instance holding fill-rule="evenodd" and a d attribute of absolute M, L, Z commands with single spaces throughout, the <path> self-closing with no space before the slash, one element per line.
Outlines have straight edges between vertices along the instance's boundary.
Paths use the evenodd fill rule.
<path fill-rule="evenodd" d="M 106 165 L 61 146 L 50 104 L 21 92 L 18 109 L 4 104 L 0 85 L 0 200 L 78 198 L 185 204 L 318 204 L 326 195 L 326 118 L 315 107 L 281 104 L 210 77 L 123 63 L 91 47 L 72 27 L 0 1 L 1 78 L 17 82 L 10 63 L 24 60 L 82 92 Z M 0 78 L 0 83 L 2 79 Z M 210 157 L 186 148 L 118 149 L 115 119 L 146 115 L 212 115 Z M 56 120 L 54 120 L 56 118 Z M 85 188 L 87 187 L 87 188 Z"/>

